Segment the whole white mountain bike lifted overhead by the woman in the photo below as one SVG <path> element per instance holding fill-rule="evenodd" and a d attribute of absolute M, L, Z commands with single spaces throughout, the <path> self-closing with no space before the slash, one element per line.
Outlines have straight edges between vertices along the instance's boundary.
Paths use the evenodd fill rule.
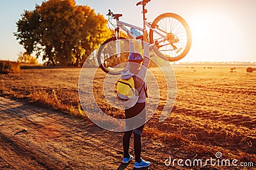
<path fill-rule="evenodd" d="M 115 34 L 102 43 L 97 53 L 98 64 L 104 72 L 120 74 L 127 63 L 129 41 L 120 36 L 120 29 L 127 32 L 133 39 L 141 41 L 141 44 L 147 41 L 150 49 L 161 59 L 174 62 L 182 59 L 189 52 L 191 31 L 186 20 L 175 13 L 163 13 L 156 17 L 152 24 L 147 22 L 145 6 L 150 1 L 143 0 L 136 4 L 136 6 L 142 5 L 143 28 L 120 21 L 122 14 L 114 14 L 109 10 L 108 22 L 112 24 L 111 20 L 116 20 Z M 131 27 L 131 31 L 127 27 Z M 149 37 L 147 27 L 150 29 Z M 143 34 L 140 34 L 140 31 Z"/>

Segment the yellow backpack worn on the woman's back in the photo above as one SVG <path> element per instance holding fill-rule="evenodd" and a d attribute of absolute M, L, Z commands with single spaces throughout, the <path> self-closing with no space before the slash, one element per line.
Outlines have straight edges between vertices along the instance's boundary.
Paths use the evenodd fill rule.
<path fill-rule="evenodd" d="M 146 95 L 146 97 L 148 97 L 147 88 L 145 88 L 145 82 L 143 82 L 143 87 L 141 87 L 140 91 L 138 92 L 137 90 L 135 90 L 134 77 L 133 76 L 131 78 L 129 78 L 128 80 L 124 80 L 122 78 L 119 78 L 116 81 L 116 89 L 115 89 L 116 97 L 120 101 L 123 101 L 123 102 L 129 101 L 131 99 L 132 99 L 132 101 L 137 102 L 142 89 L 144 89 L 145 95 Z"/>

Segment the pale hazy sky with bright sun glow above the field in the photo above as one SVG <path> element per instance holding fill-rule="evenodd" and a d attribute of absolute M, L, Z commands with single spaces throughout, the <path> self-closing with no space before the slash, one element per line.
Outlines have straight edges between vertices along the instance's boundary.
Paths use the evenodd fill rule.
<path fill-rule="evenodd" d="M 136 0 L 75 0 L 106 17 L 111 9 L 120 20 L 142 26 L 141 6 Z M 0 1 L 0 60 L 17 60 L 24 48 L 13 36 L 15 22 L 24 10 L 34 10 L 42 0 Z M 256 62 L 255 0 L 151 0 L 146 8 L 148 22 L 161 13 L 177 13 L 188 22 L 192 45 L 181 62 Z M 42 62 L 42 60 L 39 60 Z"/>

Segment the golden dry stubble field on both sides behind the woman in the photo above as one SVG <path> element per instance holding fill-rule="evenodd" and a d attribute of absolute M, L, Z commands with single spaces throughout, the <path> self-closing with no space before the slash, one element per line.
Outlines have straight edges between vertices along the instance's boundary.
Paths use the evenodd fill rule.
<path fill-rule="evenodd" d="M 79 71 L 30 69 L 0 75 L 0 93 L 84 116 L 77 91 Z M 256 73 L 246 73 L 246 68 L 236 68 L 231 73 L 230 67 L 196 66 L 176 66 L 174 71 L 177 99 L 171 115 L 160 124 L 166 84 L 163 75 L 152 69 L 161 91 L 156 113 L 147 122 L 144 135 L 191 157 L 214 157 L 216 152 L 222 152 L 225 157 L 256 162 Z M 103 96 L 105 75 L 99 70 L 93 80 L 97 104 L 111 117 L 124 118 L 124 111 L 111 107 Z"/>

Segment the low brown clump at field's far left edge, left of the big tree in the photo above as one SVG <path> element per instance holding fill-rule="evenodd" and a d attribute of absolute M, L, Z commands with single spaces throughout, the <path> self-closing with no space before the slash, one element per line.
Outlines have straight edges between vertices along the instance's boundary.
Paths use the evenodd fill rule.
<path fill-rule="evenodd" d="M 0 74 L 20 73 L 20 63 L 0 60 Z"/>

